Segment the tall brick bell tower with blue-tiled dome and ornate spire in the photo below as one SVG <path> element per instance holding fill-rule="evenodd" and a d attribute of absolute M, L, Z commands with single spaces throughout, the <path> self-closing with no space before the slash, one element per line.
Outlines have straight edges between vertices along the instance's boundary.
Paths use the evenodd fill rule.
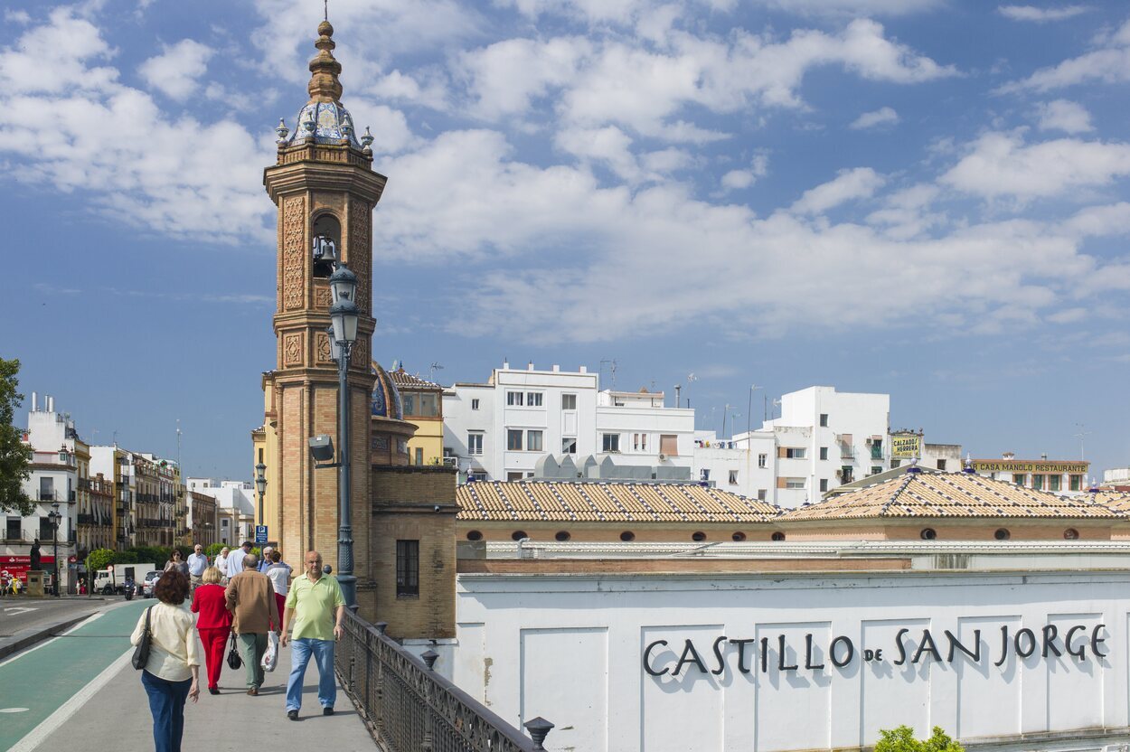
<path fill-rule="evenodd" d="M 385 177 L 373 172 L 373 137 L 358 140 L 341 105 L 341 64 L 333 58 L 333 27 L 318 27 L 318 55 L 310 61 L 310 102 L 292 133 L 282 121 L 276 132 L 278 161 L 263 172 L 263 184 L 278 207 L 278 303 L 273 325 L 277 366 L 264 374 L 266 454 L 271 540 L 286 560 L 316 549 L 338 567 L 338 475 L 315 470 L 307 439 L 337 434 L 338 376 L 330 355 L 329 276 L 342 261 L 357 276 L 360 317 L 348 384 L 350 394 L 350 511 L 354 572 L 362 614 L 375 609 L 371 513 L 370 366 L 372 336 L 372 218 Z M 262 462 L 262 460 L 260 460 Z"/>

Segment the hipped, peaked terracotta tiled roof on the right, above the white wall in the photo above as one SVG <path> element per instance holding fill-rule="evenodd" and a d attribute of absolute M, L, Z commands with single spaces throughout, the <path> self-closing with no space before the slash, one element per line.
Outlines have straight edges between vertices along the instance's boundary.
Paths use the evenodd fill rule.
<path fill-rule="evenodd" d="M 1062 497 L 971 473 L 906 473 L 792 509 L 782 522 L 875 517 L 1118 517 L 1086 495 Z"/>

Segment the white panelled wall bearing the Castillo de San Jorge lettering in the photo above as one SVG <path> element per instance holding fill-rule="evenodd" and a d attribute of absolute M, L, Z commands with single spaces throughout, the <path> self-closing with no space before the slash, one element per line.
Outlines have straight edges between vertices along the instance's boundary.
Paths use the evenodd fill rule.
<path fill-rule="evenodd" d="M 1023 734 L 1025 749 L 1101 750 L 1130 742 L 1128 585 L 1096 571 L 460 575 L 452 671 L 507 720 L 556 724 L 550 750 L 853 747 L 902 724 L 984 749 Z"/>

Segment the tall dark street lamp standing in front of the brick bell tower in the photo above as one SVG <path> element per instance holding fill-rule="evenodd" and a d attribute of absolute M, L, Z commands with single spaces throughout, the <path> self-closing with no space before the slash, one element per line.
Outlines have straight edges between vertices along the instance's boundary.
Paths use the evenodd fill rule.
<path fill-rule="evenodd" d="M 330 343 L 338 362 L 338 583 L 346 605 L 357 610 L 357 578 L 353 574 L 353 525 L 349 510 L 349 355 L 357 341 L 359 312 L 354 296 L 357 276 L 344 263 L 330 274 Z"/>

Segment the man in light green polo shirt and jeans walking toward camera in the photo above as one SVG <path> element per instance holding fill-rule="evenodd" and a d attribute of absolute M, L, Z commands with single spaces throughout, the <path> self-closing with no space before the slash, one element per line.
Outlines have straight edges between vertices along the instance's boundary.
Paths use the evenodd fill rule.
<path fill-rule="evenodd" d="M 302 707 L 302 681 L 313 655 L 318 662 L 318 701 L 322 715 L 333 715 L 338 688 L 333 682 L 333 642 L 341 638 L 346 600 L 334 577 L 322 575 L 322 554 L 307 551 L 305 571 L 290 584 L 282 614 L 282 645 L 294 642 L 290 653 L 290 679 L 286 685 L 286 715 L 298 719 Z M 294 633 L 287 629 L 294 626 Z"/>

